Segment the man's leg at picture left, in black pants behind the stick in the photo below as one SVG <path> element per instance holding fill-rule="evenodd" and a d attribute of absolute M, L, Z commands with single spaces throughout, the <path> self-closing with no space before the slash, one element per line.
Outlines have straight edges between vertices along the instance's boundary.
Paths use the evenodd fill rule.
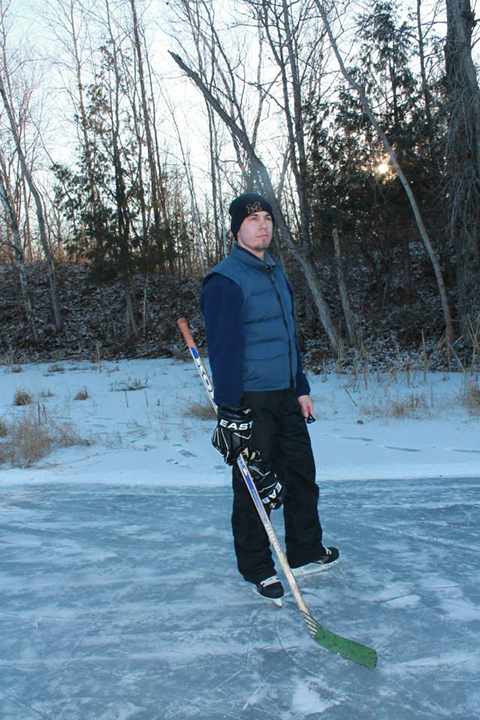
<path fill-rule="evenodd" d="M 278 407 L 281 391 L 245 393 L 243 404 L 253 413 L 251 447 L 273 464 L 279 432 Z M 233 468 L 232 530 L 240 573 L 245 580 L 259 583 L 275 574 L 270 543 L 237 466 Z"/>

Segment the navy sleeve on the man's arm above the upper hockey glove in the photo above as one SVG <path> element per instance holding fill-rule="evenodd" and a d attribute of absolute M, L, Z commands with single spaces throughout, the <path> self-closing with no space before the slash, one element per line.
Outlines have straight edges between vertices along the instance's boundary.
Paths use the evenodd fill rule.
<path fill-rule="evenodd" d="M 214 273 L 200 293 L 208 357 L 217 405 L 240 407 L 243 395 L 243 293 L 233 280 Z"/>

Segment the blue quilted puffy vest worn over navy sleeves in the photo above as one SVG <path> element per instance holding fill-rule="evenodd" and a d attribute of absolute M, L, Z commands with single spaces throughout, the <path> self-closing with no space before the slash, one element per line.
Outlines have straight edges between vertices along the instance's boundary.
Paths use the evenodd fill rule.
<path fill-rule="evenodd" d="M 242 290 L 243 387 L 257 392 L 293 387 L 297 373 L 292 296 L 280 265 L 268 254 L 265 258 L 234 245 L 207 275 L 224 275 Z"/>

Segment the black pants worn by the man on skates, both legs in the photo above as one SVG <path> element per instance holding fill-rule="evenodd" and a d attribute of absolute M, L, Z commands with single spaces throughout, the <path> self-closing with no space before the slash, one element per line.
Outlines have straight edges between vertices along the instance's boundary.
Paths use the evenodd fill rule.
<path fill-rule="evenodd" d="M 317 560 L 323 552 L 319 491 L 310 437 L 296 393 L 292 389 L 246 392 L 242 404 L 253 412 L 251 447 L 260 450 L 287 488 L 283 515 L 288 562 L 300 567 Z M 265 528 L 236 466 L 232 530 L 238 569 L 245 580 L 258 583 L 274 575 Z"/>

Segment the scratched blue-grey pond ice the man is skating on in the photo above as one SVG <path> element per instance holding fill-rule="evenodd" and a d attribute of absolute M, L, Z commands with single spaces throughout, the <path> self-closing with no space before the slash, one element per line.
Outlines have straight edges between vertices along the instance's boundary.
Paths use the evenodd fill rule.
<path fill-rule="evenodd" d="M 301 589 L 366 670 L 237 573 L 230 489 L 0 485 L 2 720 L 475 720 L 479 480 L 325 483 Z M 281 511 L 277 511 L 281 512 Z M 276 525 L 281 536 L 281 516 Z"/>

